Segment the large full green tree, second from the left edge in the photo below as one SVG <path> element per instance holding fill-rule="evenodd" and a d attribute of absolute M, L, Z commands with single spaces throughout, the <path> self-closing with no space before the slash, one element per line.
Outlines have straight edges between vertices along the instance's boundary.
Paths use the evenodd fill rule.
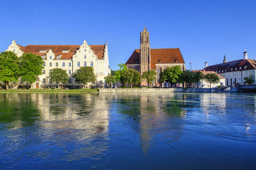
<path fill-rule="evenodd" d="M 44 62 L 41 56 L 31 53 L 24 53 L 20 57 L 20 76 L 22 81 L 27 81 L 30 84 L 37 80 L 38 75 L 42 74 Z"/>

